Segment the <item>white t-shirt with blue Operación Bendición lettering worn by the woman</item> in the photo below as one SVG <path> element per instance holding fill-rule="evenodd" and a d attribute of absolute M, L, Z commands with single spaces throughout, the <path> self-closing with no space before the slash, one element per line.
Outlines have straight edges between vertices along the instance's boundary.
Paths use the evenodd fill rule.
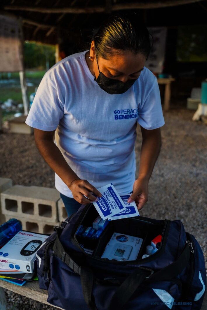
<path fill-rule="evenodd" d="M 94 81 L 85 53 L 70 55 L 42 78 L 25 123 L 55 131 L 55 144 L 71 169 L 96 188 L 112 183 L 120 195 L 135 181 L 137 122 L 145 129 L 164 125 L 157 78 L 144 67 L 123 94 L 110 95 Z M 57 190 L 73 197 L 55 173 Z"/>

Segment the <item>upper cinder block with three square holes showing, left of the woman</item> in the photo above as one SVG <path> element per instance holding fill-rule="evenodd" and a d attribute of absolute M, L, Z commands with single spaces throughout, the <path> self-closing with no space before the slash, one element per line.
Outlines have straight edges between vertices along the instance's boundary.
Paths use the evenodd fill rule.
<path fill-rule="evenodd" d="M 59 198 L 60 193 L 55 188 L 15 185 L 1 193 L 2 213 L 56 223 Z"/>

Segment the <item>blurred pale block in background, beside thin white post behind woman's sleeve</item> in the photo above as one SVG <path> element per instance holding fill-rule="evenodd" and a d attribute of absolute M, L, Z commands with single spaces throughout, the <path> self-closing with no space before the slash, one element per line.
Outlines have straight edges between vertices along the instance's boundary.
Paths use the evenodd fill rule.
<path fill-rule="evenodd" d="M 27 116 L 25 115 L 21 115 L 9 120 L 9 132 L 17 134 L 33 134 L 34 129 L 25 123 L 26 117 Z"/>

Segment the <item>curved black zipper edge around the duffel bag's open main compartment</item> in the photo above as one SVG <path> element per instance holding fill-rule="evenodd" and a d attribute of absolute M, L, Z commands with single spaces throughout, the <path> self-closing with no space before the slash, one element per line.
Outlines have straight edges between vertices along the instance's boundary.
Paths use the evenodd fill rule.
<path fill-rule="evenodd" d="M 87 210 L 90 208 L 90 206 L 91 206 L 91 204 L 89 204 L 89 206 L 88 206 L 87 208 L 85 208 L 83 214 L 82 214 L 81 217 L 79 218 L 78 224 L 77 224 L 77 225 L 75 226 L 75 228 L 74 228 L 75 232 L 76 232 L 78 226 L 80 225 L 81 220 L 84 218 L 84 216 L 85 216 Z M 154 260 L 154 259 L 156 258 L 156 256 L 161 252 L 161 250 L 162 250 L 162 244 L 163 244 L 163 243 L 166 243 L 166 241 L 167 241 L 167 234 L 164 236 L 164 233 L 165 233 L 166 228 L 169 227 L 170 221 L 169 221 L 168 219 L 165 219 L 164 221 L 165 221 L 165 224 L 164 224 L 164 228 L 163 228 L 163 237 L 162 237 L 162 239 L 161 239 L 160 247 L 159 247 L 159 249 L 158 249 L 153 255 L 151 255 L 152 257 L 149 256 L 149 257 L 146 257 L 146 258 L 143 258 L 143 259 L 136 259 L 136 260 L 130 260 L 130 261 L 124 261 L 124 262 L 113 261 L 113 263 L 115 263 L 115 264 L 116 264 L 116 263 L 119 263 L 120 265 L 126 265 L 126 264 L 134 264 L 135 262 L 136 262 L 136 263 L 137 263 L 137 262 L 150 262 L 150 261 Z M 73 230 L 73 232 L 74 232 L 74 230 Z M 96 260 L 96 261 L 102 261 L 102 262 L 104 261 L 104 262 L 107 262 L 107 263 L 112 263 L 111 260 L 108 260 L 108 261 L 107 261 L 107 260 L 95 258 L 95 257 L 91 256 L 90 254 L 85 253 L 85 251 L 81 248 L 81 246 L 79 245 L 79 243 L 78 243 L 78 241 L 77 241 L 76 233 L 74 233 L 74 234 L 71 235 L 71 240 L 72 240 L 73 244 L 76 245 L 76 246 L 81 250 L 81 252 L 83 252 L 85 255 L 87 255 L 87 256 L 90 257 L 91 259 L 94 259 L 94 260 Z"/>

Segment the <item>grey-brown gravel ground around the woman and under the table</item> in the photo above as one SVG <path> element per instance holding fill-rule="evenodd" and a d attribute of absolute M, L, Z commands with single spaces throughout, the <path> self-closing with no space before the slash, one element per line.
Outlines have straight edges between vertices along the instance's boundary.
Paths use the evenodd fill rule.
<path fill-rule="evenodd" d="M 180 219 L 195 236 L 207 262 L 207 126 L 193 122 L 194 111 L 172 108 L 164 113 L 162 149 L 149 183 L 149 200 L 140 215 L 155 219 Z M 13 184 L 54 187 L 54 173 L 39 154 L 34 137 L 9 134 L 7 124 L 0 135 L 0 176 Z M 137 170 L 141 148 L 137 129 Z M 138 175 L 138 171 L 137 171 Z M 207 263 L 206 263 L 207 266 Z M 47 305 L 6 291 L 9 309 L 48 308 Z"/>

